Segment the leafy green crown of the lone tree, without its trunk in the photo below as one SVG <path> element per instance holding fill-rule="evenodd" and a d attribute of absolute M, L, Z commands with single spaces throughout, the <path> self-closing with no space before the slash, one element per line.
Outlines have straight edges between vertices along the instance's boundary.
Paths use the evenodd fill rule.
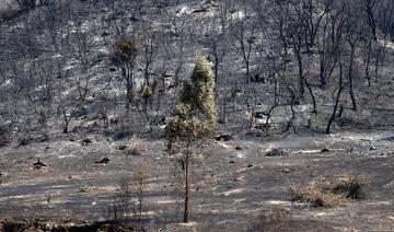
<path fill-rule="evenodd" d="M 185 83 L 181 104 L 176 105 L 169 118 L 166 132 L 173 139 L 204 139 L 216 130 L 216 104 L 213 73 L 201 55 L 197 57 L 192 73 L 192 83 Z"/>

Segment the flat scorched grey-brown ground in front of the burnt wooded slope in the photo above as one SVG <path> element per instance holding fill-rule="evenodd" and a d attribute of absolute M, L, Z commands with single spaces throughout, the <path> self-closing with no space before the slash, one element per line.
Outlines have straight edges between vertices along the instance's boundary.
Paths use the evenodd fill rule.
<path fill-rule="evenodd" d="M 181 166 L 176 155 L 164 151 L 163 139 L 146 140 L 138 156 L 119 150 L 121 141 L 100 136 L 91 137 L 89 146 L 78 141 L 9 146 L 0 154 L 0 218 L 24 225 L 38 220 L 47 229 L 69 231 L 78 231 L 78 224 L 81 231 L 88 225 L 89 231 L 96 231 L 96 222 L 109 228 L 116 224 L 107 212 L 119 193 L 120 179 L 130 177 L 132 182 L 138 165 L 144 165 L 141 224 L 148 231 L 247 231 L 259 223 L 262 213 L 277 207 L 291 212 L 287 220 L 296 231 L 389 231 L 394 225 L 394 151 L 387 137 L 390 131 L 212 141 L 194 151 L 189 224 L 178 223 L 182 205 L 179 181 L 174 175 Z M 237 146 L 242 150 L 236 150 Z M 287 155 L 266 155 L 276 148 L 286 150 Z M 329 151 L 322 153 L 323 148 Z M 35 169 L 37 158 L 46 166 Z M 95 163 L 103 158 L 111 161 Z M 349 199 L 345 208 L 291 201 L 291 184 L 338 175 L 358 175 L 366 196 Z M 135 197 L 131 194 L 130 198 Z M 67 225 L 70 222 L 76 230 Z M 134 223 L 130 220 L 130 227 Z"/>

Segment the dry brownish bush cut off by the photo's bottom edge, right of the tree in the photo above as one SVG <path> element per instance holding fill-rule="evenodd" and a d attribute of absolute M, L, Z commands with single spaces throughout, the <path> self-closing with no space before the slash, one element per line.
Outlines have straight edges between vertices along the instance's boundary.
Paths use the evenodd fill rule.
<path fill-rule="evenodd" d="M 252 223 L 248 231 L 253 232 L 291 232 L 291 212 L 282 208 L 273 208 L 269 212 L 262 213 L 257 221 Z"/>

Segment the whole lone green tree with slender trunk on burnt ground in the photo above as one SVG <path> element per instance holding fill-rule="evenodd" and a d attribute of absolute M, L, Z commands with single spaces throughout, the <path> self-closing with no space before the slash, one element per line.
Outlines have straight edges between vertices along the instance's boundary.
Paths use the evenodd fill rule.
<path fill-rule="evenodd" d="M 188 222 L 189 211 L 190 148 L 213 136 L 217 120 L 213 72 L 202 55 L 197 56 L 190 79 L 192 83 L 185 82 L 181 103 L 171 112 L 166 127 L 170 149 L 174 143 L 184 148 L 184 223 Z"/>

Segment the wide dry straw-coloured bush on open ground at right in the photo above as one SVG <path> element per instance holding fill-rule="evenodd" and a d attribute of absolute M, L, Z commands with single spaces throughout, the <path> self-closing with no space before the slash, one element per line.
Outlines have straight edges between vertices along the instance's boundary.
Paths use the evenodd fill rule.
<path fill-rule="evenodd" d="M 318 178 L 306 185 L 292 185 L 292 201 L 313 207 L 347 207 L 349 198 L 358 199 L 362 184 L 358 176 L 346 175 L 339 178 Z"/>

